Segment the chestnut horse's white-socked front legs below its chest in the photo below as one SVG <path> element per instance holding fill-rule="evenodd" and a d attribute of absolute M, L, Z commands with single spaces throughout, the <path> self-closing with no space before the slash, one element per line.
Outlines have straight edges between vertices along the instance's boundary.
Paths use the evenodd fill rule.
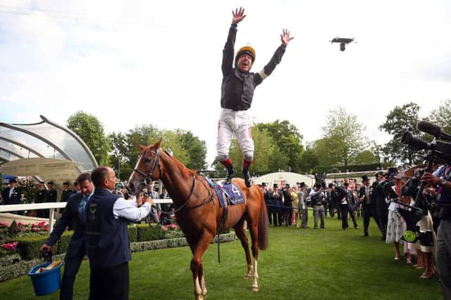
<path fill-rule="evenodd" d="M 194 243 L 194 247 L 192 247 L 193 257 L 191 260 L 191 272 L 194 281 L 194 296 L 196 300 L 203 300 L 206 295 L 202 256 L 204 255 L 206 248 L 209 247 L 211 237 L 212 236 L 209 234 L 202 234 L 197 241 L 197 244 Z"/>

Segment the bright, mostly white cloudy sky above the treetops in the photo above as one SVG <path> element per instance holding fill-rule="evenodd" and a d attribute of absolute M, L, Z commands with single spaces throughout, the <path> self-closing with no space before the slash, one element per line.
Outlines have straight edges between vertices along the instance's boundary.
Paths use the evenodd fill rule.
<path fill-rule="evenodd" d="M 385 143 L 378 126 L 396 105 L 417 103 L 427 116 L 451 98 L 450 1 L 0 0 L 0 122 L 66 124 L 82 110 L 106 133 L 185 129 L 206 141 L 211 164 L 222 49 L 240 6 L 235 45 L 255 48 L 252 71 L 283 28 L 295 37 L 249 115 L 288 120 L 304 144 L 321 138 L 338 106 Z M 342 52 L 334 37 L 357 43 Z"/>

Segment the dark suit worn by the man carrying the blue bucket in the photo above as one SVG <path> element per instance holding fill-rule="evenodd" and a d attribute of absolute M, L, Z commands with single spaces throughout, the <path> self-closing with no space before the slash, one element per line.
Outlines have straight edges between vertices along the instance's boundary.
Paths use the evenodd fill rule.
<path fill-rule="evenodd" d="M 60 239 L 66 227 L 73 226 L 74 233 L 70 238 L 66 259 L 64 260 L 65 267 L 61 282 L 60 299 L 72 299 L 75 276 L 78 273 L 82 259 L 85 257 L 85 225 L 78 214 L 78 206 L 83 197 L 82 193 L 70 195 L 63 215 L 58 219 L 54 230 L 45 242 L 45 244 L 53 246 Z"/>

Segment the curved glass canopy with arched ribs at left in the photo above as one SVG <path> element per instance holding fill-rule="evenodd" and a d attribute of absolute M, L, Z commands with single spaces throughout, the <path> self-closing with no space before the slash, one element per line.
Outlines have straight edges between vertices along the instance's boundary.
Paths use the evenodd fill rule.
<path fill-rule="evenodd" d="M 0 159 L 61 159 L 76 162 L 80 173 L 97 167 L 94 155 L 79 136 L 66 126 L 40 117 L 42 122 L 34 124 L 0 123 Z"/>

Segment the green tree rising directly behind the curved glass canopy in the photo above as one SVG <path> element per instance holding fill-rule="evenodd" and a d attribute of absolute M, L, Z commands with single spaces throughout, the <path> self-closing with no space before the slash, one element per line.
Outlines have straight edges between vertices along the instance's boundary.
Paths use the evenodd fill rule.
<path fill-rule="evenodd" d="M 68 118 L 67 126 L 85 142 L 99 165 L 109 165 L 109 138 L 105 136 L 104 126 L 94 115 L 81 110 Z"/>

